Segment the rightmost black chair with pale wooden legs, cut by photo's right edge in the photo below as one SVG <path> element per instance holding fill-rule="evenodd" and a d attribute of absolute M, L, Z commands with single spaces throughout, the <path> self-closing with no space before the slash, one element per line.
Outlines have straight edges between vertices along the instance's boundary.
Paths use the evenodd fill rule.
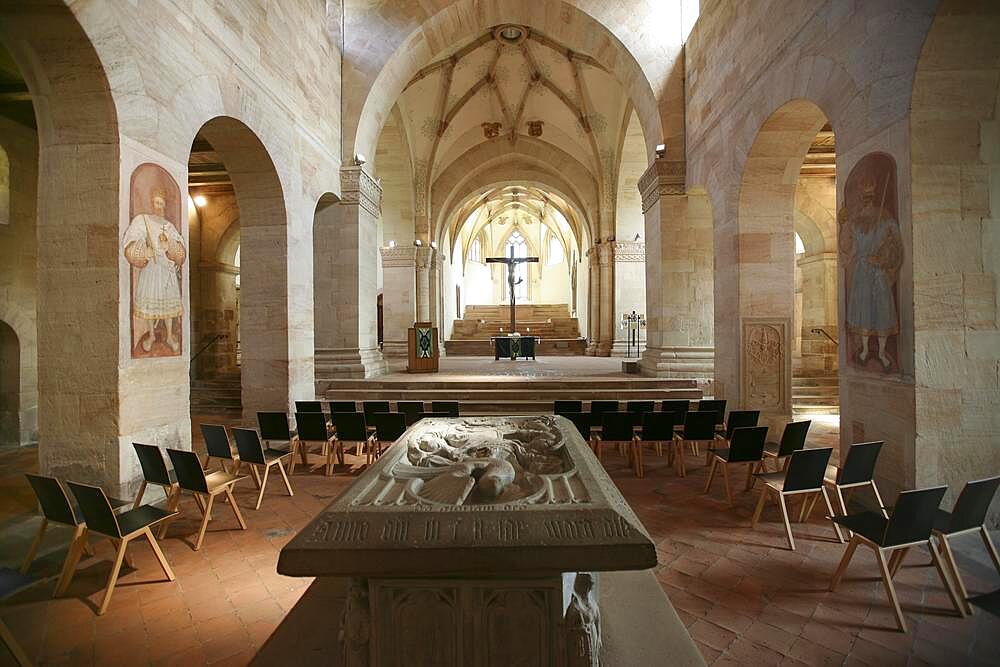
<path fill-rule="evenodd" d="M 958 563 L 955 561 L 955 554 L 951 550 L 948 538 L 978 532 L 983 538 L 986 551 L 993 559 L 993 567 L 1000 573 L 1000 555 L 997 554 L 997 548 L 993 544 L 993 540 L 990 539 L 990 531 L 986 528 L 986 515 L 989 513 L 990 504 L 993 502 L 998 486 L 1000 486 L 1000 476 L 967 482 L 962 493 L 958 495 L 958 500 L 955 501 L 951 512 L 938 509 L 934 517 L 934 526 L 931 528 L 931 533 L 941 543 L 945 562 L 948 564 L 948 569 L 951 570 L 951 576 L 958 587 L 959 597 L 967 614 L 972 613 L 972 605 L 969 604 L 969 591 L 965 588 L 962 574 L 958 571 Z M 900 555 L 894 564 L 893 574 L 902 565 L 905 553 L 905 549 L 899 552 Z"/>

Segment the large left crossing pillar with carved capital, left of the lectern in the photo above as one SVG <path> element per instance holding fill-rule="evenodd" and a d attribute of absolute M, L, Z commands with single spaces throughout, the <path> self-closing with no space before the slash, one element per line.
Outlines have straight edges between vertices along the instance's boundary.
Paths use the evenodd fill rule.
<path fill-rule="evenodd" d="M 339 220 L 317 230 L 314 242 L 328 261 L 317 267 L 316 391 L 335 378 L 386 372 L 378 350 L 375 285 L 377 224 L 382 188 L 362 167 L 340 170 Z"/>

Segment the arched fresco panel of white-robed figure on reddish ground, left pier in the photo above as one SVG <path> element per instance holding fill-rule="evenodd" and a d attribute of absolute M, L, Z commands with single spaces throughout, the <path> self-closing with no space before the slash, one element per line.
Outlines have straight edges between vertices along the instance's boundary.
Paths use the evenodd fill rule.
<path fill-rule="evenodd" d="M 159 165 L 132 172 L 129 224 L 122 253 L 131 267 L 129 312 L 132 358 L 176 357 L 183 348 L 181 191 Z"/>

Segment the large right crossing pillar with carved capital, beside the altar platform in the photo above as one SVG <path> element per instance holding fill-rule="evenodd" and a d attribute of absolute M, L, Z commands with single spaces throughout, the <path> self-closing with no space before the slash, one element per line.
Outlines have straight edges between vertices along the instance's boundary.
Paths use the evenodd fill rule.
<path fill-rule="evenodd" d="M 658 158 L 639 179 L 646 218 L 643 375 L 714 377 L 712 217 L 689 198 L 684 163 Z M 695 201 L 697 200 L 697 201 Z"/>

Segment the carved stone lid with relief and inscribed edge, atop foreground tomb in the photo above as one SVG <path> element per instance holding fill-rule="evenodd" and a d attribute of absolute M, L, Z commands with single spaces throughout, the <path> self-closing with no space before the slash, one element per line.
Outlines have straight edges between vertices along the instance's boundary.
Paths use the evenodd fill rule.
<path fill-rule="evenodd" d="M 288 576 L 532 576 L 656 565 L 567 419 L 424 419 L 281 551 Z"/>

